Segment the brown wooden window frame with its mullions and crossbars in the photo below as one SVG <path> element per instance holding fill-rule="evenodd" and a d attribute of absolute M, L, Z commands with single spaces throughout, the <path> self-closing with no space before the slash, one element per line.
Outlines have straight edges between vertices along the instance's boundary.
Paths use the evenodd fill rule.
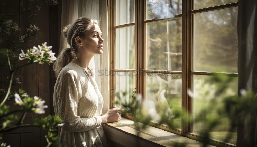
<path fill-rule="evenodd" d="M 189 123 L 183 122 L 181 129 L 170 128 L 167 125 L 160 125 L 155 122 L 151 122 L 149 125 L 160 128 L 162 130 L 175 133 L 181 136 L 188 137 L 197 141 L 201 141 L 199 135 L 192 133 L 193 122 L 192 122 L 192 98 L 188 96 L 187 89 L 192 90 L 192 76 L 193 75 L 211 75 L 216 72 L 198 72 L 193 71 L 192 68 L 192 51 L 193 51 L 193 15 L 201 12 L 208 12 L 213 10 L 219 10 L 230 7 L 237 7 L 238 2 L 218 5 L 213 7 L 201 8 L 192 10 L 194 0 L 182 0 L 182 14 L 178 14 L 175 17 L 158 20 L 145 20 L 146 0 L 135 0 L 135 22 L 123 25 L 115 26 L 115 0 L 110 1 L 111 5 L 111 22 L 110 22 L 110 75 L 115 75 L 115 72 L 134 72 L 136 73 L 135 88 L 136 93 L 142 94 L 143 99 L 145 98 L 145 76 L 147 72 L 151 73 L 167 73 L 167 74 L 179 74 L 182 75 L 182 109 L 189 112 L 186 115 Z M 182 18 L 182 71 L 160 71 L 160 70 L 146 70 L 145 65 L 145 32 L 146 23 L 157 22 L 162 20 L 171 20 L 176 18 Z M 116 69 L 115 68 L 115 29 L 135 26 L 135 69 Z M 188 41 L 187 41 L 188 40 Z M 217 73 L 222 76 L 238 77 L 237 73 Z M 115 93 L 115 76 L 110 76 L 110 108 L 114 107 L 114 93 Z M 130 115 L 122 114 L 123 117 L 132 119 Z M 133 119 L 132 119 L 133 120 Z M 236 146 L 230 143 L 223 143 L 218 140 L 212 139 L 211 143 L 215 146 Z"/>

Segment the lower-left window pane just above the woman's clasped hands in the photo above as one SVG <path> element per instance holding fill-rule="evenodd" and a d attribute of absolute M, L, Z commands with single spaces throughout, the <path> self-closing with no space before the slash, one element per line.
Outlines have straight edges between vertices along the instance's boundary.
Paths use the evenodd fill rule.
<path fill-rule="evenodd" d="M 116 72 L 115 73 L 115 93 L 120 93 L 121 102 L 125 102 L 132 97 L 135 88 L 135 73 L 131 72 Z M 126 91 L 126 95 L 122 96 L 122 92 Z M 115 100 L 117 96 L 115 96 Z M 115 106 L 119 107 L 119 106 Z"/>

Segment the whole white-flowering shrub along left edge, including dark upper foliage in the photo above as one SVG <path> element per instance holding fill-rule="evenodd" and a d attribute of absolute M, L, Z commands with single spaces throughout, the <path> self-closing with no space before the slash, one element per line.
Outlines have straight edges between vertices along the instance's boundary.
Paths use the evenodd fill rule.
<path fill-rule="evenodd" d="M 24 66 L 34 64 L 34 63 L 53 63 L 56 60 L 54 56 L 55 53 L 52 52 L 52 46 L 47 46 L 46 42 L 42 45 L 38 45 L 37 47 L 34 46 L 33 48 L 24 50 L 24 47 L 21 45 L 25 43 L 25 41 L 29 41 L 34 37 L 35 39 L 37 36 L 36 34 L 39 31 L 39 28 L 35 24 L 35 16 L 36 11 L 40 11 L 41 7 L 44 7 L 44 4 L 47 5 L 56 5 L 56 0 L 33 0 L 27 1 L 27 4 L 23 4 L 23 1 L 20 2 L 21 6 L 25 8 L 21 10 L 22 12 L 20 15 L 25 14 L 26 12 L 31 11 L 31 14 L 28 16 L 28 24 L 27 27 L 24 29 L 24 34 L 20 34 L 19 26 L 16 22 L 9 20 L 11 16 L 9 14 L 0 14 L 0 42 L 1 42 L 1 49 L 0 50 L 0 66 L 8 66 L 8 70 L 10 71 L 9 76 L 4 78 L 1 82 L 4 83 L 7 89 L 0 89 L 0 118 L 2 121 L 0 122 L 0 146 L 6 146 L 6 143 L 3 143 L 2 139 L 2 132 L 9 132 L 13 129 L 18 127 L 29 127 L 29 126 L 36 126 L 41 127 L 43 129 L 48 130 L 48 134 L 45 135 L 45 138 L 48 142 L 47 146 L 63 146 L 58 142 L 58 136 L 55 132 L 57 128 L 62 126 L 63 120 L 56 115 L 48 115 L 47 117 L 36 117 L 33 118 L 33 124 L 23 124 L 23 120 L 27 113 L 37 113 L 37 114 L 44 114 L 45 108 L 48 108 L 47 105 L 44 105 L 45 101 L 39 98 L 38 96 L 30 97 L 29 94 L 25 93 L 24 90 L 19 89 L 19 91 L 12 91 L 11 87 L 15 84 L 21 84 L 18 82 L 19 79 L 15 77 L 14 73 L 17 70 L 20 70 Z M 0 5 L 1 12 L 5 8 L 5 4 L 2 3 Z M 0 12 L 0 13 L 1 13 Z M 12 15 L 13 16 L 13 15 Z M 19 31 L 19 32 L 18 32 Z M 21 49 L 21 53 L 19 54 L 19 60 L 27 60 L 28 63 L 23 65 L 18 65 L 17 62 L 17 50 Z M 14 79 L 14 80 L 13 80 Z M 9 110 L 10 106 L 5 104 L 6 100 L 15 100 L 15 104 L 20 105 L 21 108 L 18 110 Z M 22 112 L 22 116 L 18 117 L 14 113 Z M 15 123 L 15 124 L 14 124 Z M 10 147 L 7 146 L 7 147 Z"/>

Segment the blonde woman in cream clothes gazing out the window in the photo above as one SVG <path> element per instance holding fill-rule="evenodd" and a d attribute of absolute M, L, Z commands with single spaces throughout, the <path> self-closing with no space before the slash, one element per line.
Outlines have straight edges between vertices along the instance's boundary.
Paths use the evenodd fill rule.
<path fill-rule="evenodd" d="M 64 120 L 59 143 L 68 146 L 105 146 L 101 124 L 120 120 L 118 108 L 102 113 L 103 97 L 88 66 L 92 57 L 102 54 L 102 32 L 98 21 L 80 17 L 63 29 L 70 48 L 63 49 L 53 65 L 54 113 Z"/>

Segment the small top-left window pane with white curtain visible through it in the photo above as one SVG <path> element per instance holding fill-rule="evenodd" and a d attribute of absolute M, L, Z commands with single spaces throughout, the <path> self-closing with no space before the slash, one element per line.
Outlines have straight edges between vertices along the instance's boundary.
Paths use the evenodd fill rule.
<path fill-rule="evenodd" d="M 116 0 L 115 25 L 135 22 L 135 0 Z"/>

